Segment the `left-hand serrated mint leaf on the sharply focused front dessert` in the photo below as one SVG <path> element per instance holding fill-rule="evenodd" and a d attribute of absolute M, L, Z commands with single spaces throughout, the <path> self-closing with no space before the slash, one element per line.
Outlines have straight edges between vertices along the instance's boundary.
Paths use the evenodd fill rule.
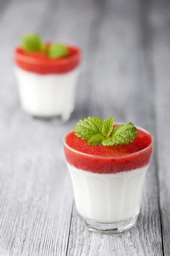
<path fill-rule="evenodd" d="M 83 140 L 90 140 L 93 135 L 102 135 L 103 120 L 96 117 L 88 117 L 76 123 L 74 132 Z"/>

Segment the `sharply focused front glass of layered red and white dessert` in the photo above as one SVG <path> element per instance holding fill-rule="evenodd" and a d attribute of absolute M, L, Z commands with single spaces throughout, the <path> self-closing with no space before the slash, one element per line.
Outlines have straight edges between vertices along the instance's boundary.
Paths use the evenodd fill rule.
<path fill-rule="evenodd" d="M 114 137 L 118 126 L 114 124 L 105 139 L 110 140 L 112 134 Z M 136 129 L 137 136 L 132 135 L 130 142 L 125 140 L 122 145 L 89 145 L 76 135 L 75 129 L 63 138 L 77 212 L 91 231 L 121 233 L 137 220 L 154 139 L 141 127 L 132 129 Z M 124 134 L 118 131 L 116 136 L 124 135 L 125 131 Z"/>

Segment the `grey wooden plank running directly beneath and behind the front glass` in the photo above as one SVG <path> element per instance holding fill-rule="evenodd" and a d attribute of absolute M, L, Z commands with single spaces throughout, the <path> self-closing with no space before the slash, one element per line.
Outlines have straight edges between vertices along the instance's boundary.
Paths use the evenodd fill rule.
<path fill-rule="evenodd" d="M 153 89 L 147 81 L 141 37 L 139 2 L 111 1 L 106 5 L 96 62 L 91 72 L 93 87 L 89 92 L 89 116 L 106 118 L 114 115 L 117 121 L 132 121 L 151 131 Z M 68 255 L 162 255 L 156 178 L 152 161 L 144 183 L 137 224 L 122 235 L 89 232 L 74 209 Z"/>

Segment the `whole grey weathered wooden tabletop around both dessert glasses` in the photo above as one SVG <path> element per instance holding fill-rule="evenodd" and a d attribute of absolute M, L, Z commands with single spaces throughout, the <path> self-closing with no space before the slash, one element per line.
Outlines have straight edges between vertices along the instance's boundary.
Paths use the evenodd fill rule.
<path fill-rule="evenodd" d="M 83 49 L 65 125 L 20 108 L 12 54 L 26 32 Z M 62 149 L 77 120 L 111 115 L 156 141 L 137 224 L 121 235 L 82 226 Z M 169 256 L 169 148 L 170 2 L 0 1 L 0 256 Z"/>

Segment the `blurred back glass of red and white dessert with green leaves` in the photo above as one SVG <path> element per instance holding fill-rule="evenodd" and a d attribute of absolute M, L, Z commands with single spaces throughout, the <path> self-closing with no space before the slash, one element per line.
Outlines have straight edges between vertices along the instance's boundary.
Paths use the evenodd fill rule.
<path fill-rule="evenodd" d="M 67 121 L 74 110 L 80 60 L 77 46 L 43 43 L 34 34 L 25 36 L 14 51 L 23 110 L 34 117 L 56 116 Z"/>

